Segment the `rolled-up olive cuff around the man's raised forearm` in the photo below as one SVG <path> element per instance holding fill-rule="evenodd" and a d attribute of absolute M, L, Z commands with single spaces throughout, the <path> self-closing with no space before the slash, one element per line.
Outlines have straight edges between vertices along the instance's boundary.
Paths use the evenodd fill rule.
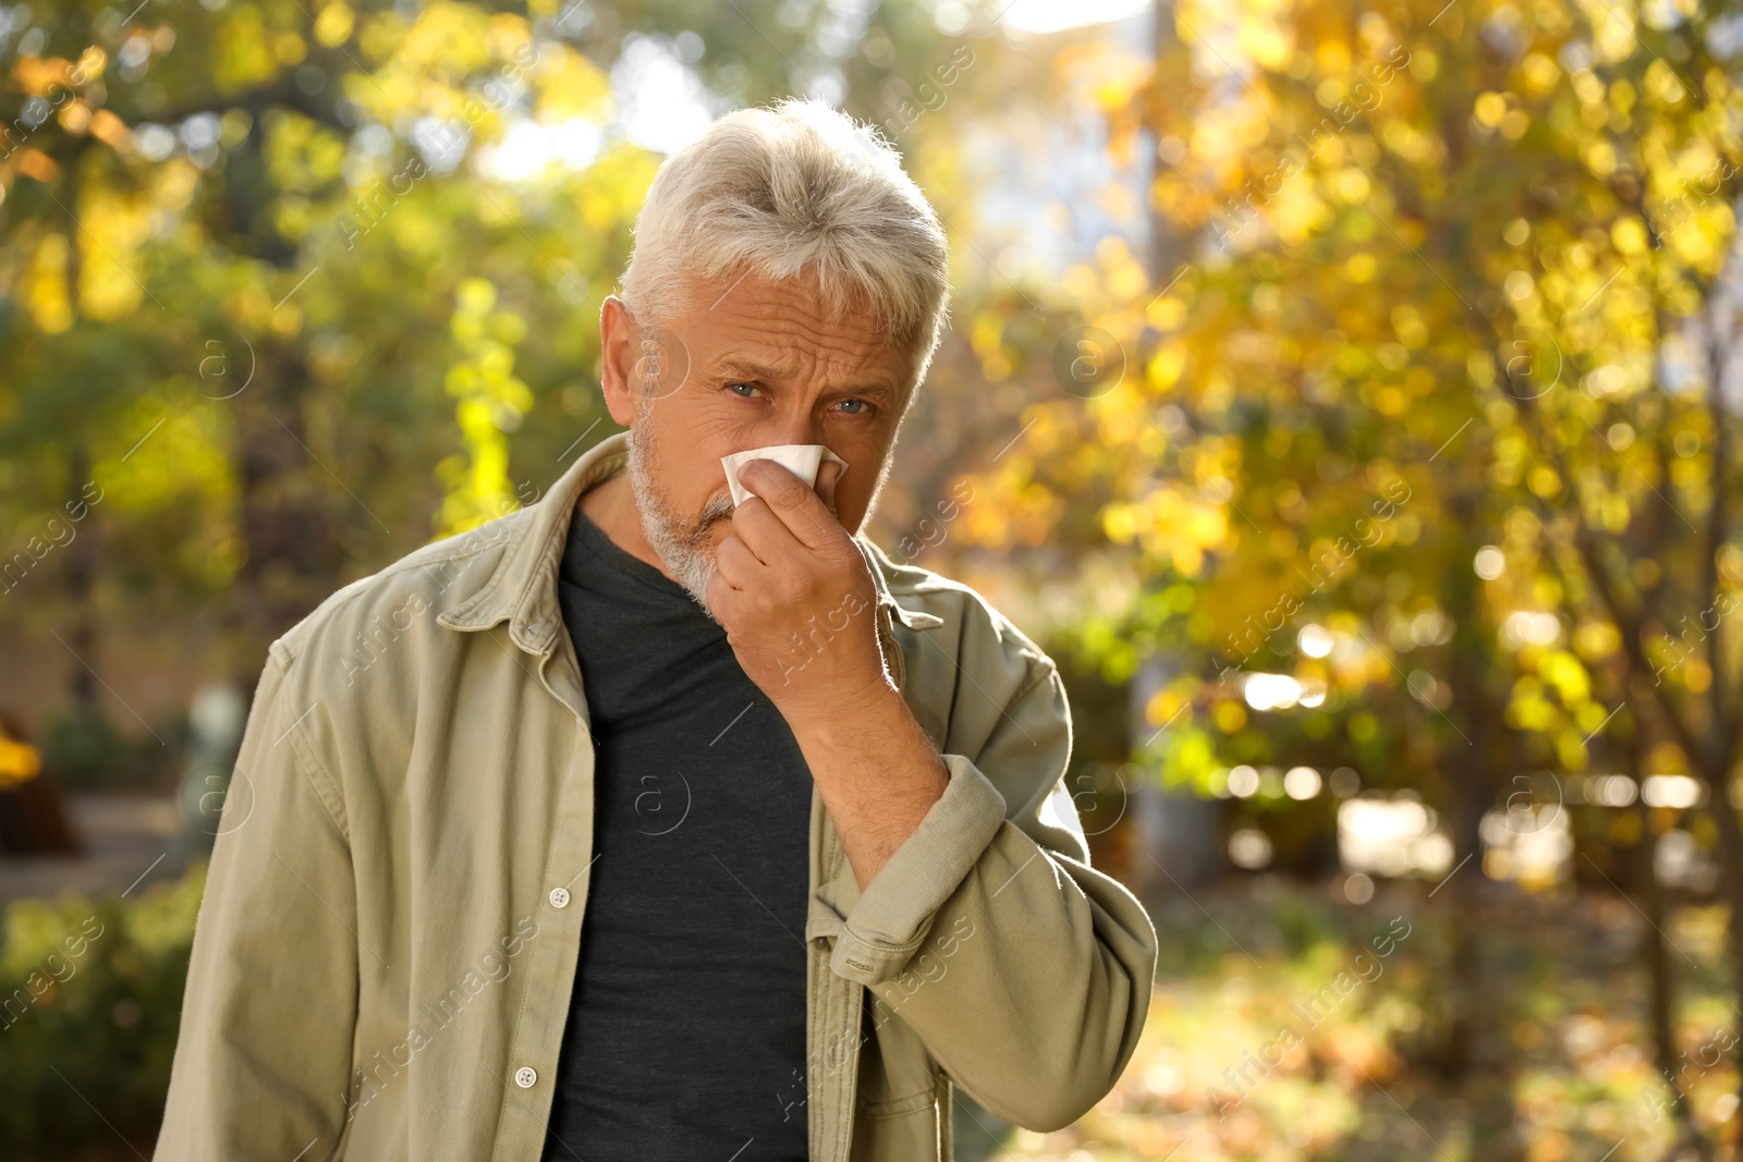
<path fill-rule="evenodd" d="M 1004 824 L 1004 796 L 974 763 L 945 754 L 945 793 L 849 909 L 830 956 L 837 976 L 861 984 L 896 977 Z"/>

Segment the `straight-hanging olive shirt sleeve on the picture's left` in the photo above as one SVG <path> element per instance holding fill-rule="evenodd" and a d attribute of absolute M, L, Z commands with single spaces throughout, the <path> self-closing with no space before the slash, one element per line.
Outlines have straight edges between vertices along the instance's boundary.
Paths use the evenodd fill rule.
<path fill-rule="evenodd" d="M 254 692 L 193 932 L 155 1157 L 338 1157 L 357 1009 L 343 801 L 286 693 L 281 648 Z"/>

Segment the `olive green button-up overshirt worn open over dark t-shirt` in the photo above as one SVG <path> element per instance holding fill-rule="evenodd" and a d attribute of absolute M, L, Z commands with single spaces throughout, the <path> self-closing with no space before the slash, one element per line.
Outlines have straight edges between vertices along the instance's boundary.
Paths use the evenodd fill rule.
<path fill-rule="evenodd" d="M 537 1162 L 596 859 L 558 563 L 575 500 L 622 467 L 612 437 L 272 645 L 157 1159 Z M 948 1159 L 952 1084 L 1032 1129 L 1114 1085 L 1156 932 L 1089 868 L 1053 662 L 973 591 L 859 544 L 950 782 L 863 894 L 812 794 L 809 1077 L 770 1101 L 809 1118 L 817 1162 Z"/>

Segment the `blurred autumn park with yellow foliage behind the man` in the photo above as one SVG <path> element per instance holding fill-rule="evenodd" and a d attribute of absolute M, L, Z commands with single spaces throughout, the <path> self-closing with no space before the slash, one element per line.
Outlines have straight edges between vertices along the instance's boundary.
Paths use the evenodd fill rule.
<path fill-rule="evenodd" d="M 1161 932 L 959 1157 L 1738 1155 L 1743 14 L 23 0 L 0 75 L 0 1155 L 150 1153 L 265 645 L 615 430 L 655 167 L 784 94 L 950 228 L 872 533 L 1060 660 Z"/>

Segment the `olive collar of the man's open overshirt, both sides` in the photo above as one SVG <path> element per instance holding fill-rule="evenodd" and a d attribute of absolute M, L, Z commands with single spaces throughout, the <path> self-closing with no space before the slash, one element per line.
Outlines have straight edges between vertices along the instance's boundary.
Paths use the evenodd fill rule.
<path fill-rule="evenodd" d="M 558 566 L 568 544 L 575 502 L 596 484 L 617 476 L 629 463 L 627 432 L 607 436 L 589 448 L 537 502 L 502 517 L 507 530 L 502 557 L 490 578 L 437 622 L 448 629 L 479 631 L 509 622 L 509 638 L 528 653 L 546 653 L 563 629 L 556 598 Z M 877 601 L 905 629 L 934 629 L 943 622 L 931 613 L 903 608 L 889 591 L 884 556 L 863 535 L 854 537 L 872 570 Z"/>

